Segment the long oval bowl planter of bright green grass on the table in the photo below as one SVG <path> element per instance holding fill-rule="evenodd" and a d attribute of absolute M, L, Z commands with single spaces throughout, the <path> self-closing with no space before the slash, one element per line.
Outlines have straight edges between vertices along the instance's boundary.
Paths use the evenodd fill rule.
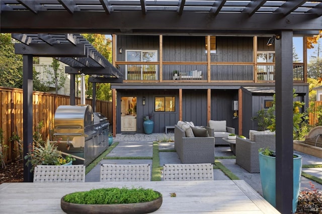
<path fill-rule="evenodd" d="M 162 194 L 152 189 L 111 187 L 66 194 L 60 207 L 66 213 L 148 213 L 162 201 Z"/>

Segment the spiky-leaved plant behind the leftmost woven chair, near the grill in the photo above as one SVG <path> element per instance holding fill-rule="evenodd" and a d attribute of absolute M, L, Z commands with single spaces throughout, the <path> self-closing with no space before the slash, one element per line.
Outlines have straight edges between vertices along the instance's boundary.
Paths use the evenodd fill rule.
<path fill-rule="evenodd" d="M 58 150 L 56 142 L 50 142 L 49 139 L 44 143 L 34 141 L 35 145 L 29 148 L 29 152 L 25 156 L 27 160 L 26 166 L 31 164 L 31 172 L 37 165 L 71 165 L 74 157 L 68 155 L 63 157 Z"/>

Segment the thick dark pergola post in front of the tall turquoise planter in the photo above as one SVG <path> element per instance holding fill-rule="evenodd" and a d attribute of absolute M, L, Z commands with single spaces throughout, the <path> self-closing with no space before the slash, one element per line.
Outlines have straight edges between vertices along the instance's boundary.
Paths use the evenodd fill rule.
<path fill-rule="evenodd" d="M 276 208 L 292 213 L 293 200 L 293 54 L 292 31 L 275 40 Z"/>

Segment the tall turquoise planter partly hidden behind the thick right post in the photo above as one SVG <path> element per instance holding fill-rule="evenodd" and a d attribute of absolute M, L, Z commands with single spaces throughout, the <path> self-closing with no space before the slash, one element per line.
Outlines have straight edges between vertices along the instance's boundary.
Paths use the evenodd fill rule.
<path fill-rule="evenodd" d="M 300 193 L 302 157 L 293 158 L 293 213 L 296 211 Z M 264 198 L 276 207 L 276 158 L 259 153 L 260 174 Z"/>

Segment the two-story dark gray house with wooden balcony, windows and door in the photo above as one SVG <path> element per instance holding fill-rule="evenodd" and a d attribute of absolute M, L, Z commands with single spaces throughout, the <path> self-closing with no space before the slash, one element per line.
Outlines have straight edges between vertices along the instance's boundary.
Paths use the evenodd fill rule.
<path fill-rule="evenodd" d="M 199 126 L 225 120 L 237 134 L 248 136 L 257 129 L 251 118 L 272 104 L 275 47 L 268 41 L 275 39 L 113 35 L 113 65 L 123 74 L 122 84 L 111 84 L 117 97 L 113 132 L 144 133 L 143 117 L 152 113 L 154 133 L 179 120 Z M 306 60 L 293 63 L 293 87 L 296 100 L 308 103 Z"/>

